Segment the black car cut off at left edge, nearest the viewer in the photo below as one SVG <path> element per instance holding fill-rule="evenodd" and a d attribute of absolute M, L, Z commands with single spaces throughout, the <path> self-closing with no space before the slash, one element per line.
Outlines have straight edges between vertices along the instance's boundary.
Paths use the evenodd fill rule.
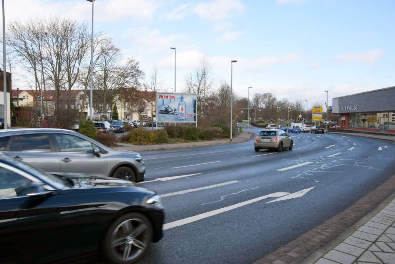
<path fill-rule="evenodd" d="M 161 239 L 164 211 L 153 190 L 129 181 L 52 175 L 0 153 L 0 219 L 2 263 L 57 263 L 95 252 L 131 263 Z"/>

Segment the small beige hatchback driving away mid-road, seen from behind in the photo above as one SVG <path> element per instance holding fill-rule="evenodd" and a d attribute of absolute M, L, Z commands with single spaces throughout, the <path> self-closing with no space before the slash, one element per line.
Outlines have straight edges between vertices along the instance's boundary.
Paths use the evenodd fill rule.
<path fill-rule="evenodd" d="M 255 137 L 254 148 L 257 152 L 261 149 L 273 149 L 281 152 L 284 148 L 292 150 L 293 141 L 284 130 L 264 129 Z"/>

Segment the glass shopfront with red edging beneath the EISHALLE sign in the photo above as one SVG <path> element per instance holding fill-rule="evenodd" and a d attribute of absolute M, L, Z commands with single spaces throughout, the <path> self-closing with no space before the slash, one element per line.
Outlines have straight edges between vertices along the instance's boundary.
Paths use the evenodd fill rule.
<path fill-rule="evenodd" d="M 395 112 L 349 113 L 349 128 L 395 130 Z"/>

